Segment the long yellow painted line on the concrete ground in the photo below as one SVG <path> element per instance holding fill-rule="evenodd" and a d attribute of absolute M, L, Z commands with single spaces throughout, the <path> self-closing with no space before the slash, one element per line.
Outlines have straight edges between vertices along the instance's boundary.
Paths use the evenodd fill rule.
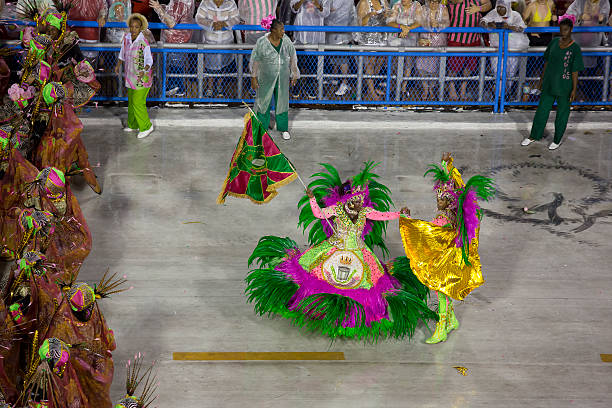
<path fill-rule="evenodd" d="M 342 352 L 174 352 L 180 361 L 344 360 Z"/>

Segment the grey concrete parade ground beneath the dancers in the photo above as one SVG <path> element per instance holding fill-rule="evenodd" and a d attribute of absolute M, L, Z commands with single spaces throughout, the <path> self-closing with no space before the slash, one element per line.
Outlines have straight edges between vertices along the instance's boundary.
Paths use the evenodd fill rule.
<path fill-rule="evenodd" d="M 247 258 L 263 235 L 297 229 L 296 181 L 265 206 L 215 199 L 242 131 L 243 109 L 152 110 L 147 139 L 121 131 L 124 109 L 84 115 L 84 140 L 103 183 L 75 187 L 93 234 L 80 278 L 107 269 L 134 289 L 101 300 L 114 329 L 113 397 L 136 352 L 157 360 L 159 407 L 612 406 L 612 114 L 573 113 L 561 148 L 521 147 L 533 112 L 292 111 L 280 149 L 307 178 L 329 162 L 350 177 L 380 161 L 396 207 L 431 219 L 443 151 L 466 177 L 495 177 L 484 203 L 484 286 L 457 304 L 448 341 L 376 345 L 304 334 L 246 303 Z M 554 115 L 553 115 L 554 117 Z M 551 117 L 551 124 L 552 124 Z M 548 139 L 550 141 L 550 138 Z M 527 211 L 525 211 L 527 208 Z M 403 255 L 397 221 L 392 256 Z M 173 352 L 343 352 L 343 361 L 174 361 Z M 453 368 L 468 369 L 466 375 Z"/>

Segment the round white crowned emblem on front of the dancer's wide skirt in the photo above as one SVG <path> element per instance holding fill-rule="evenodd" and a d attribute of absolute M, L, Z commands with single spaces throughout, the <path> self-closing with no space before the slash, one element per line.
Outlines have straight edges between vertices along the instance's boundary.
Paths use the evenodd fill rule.
<path fill-rule="evenodd" d="M 323 262 L 323 277 L 340 289 L 353 289 L 363 281 L 364 267 L 361 260 L 351 251 L 334 252 Z"/>

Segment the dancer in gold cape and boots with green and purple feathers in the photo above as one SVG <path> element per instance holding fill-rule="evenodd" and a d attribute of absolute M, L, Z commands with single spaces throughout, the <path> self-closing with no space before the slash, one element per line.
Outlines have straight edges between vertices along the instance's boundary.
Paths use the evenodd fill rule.
<path fill-rule="evenodd" d="M 400 218 L 400 233 L 413 273 L 438 292 L 436 331 L 425 341 L 435 344 L 459 328 L 452 299 L 463 300 L 484 283 L 478 256 L 481 209 L 476 200 L 488 200 L 495 189 L 493 180 L 483 176 L 463 183 L 450 153 L 442 155 L 441 166 L 429 167 L 425 175 L 434 176 L 439 213 L 432 222 Z"/>

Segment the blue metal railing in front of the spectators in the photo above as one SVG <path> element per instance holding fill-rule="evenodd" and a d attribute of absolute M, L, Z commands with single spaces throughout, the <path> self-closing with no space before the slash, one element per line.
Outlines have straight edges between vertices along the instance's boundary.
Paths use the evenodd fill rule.
<path fill-rule="evenodd" d="M 15 22 L 16 24 L 25 24 L 22 22 Z M 91 21 L 70 21 L 69 25 L 74 27 L 97 27 L 97 22 Z M 162 23 L 151 23 L 150 28 L 152 29 L 167 29 L 168 27 Z M 105 27 L 117 28 L 126 27 L 125 23 L 109 22 L 106 23 Z M 196 24 L 178 24 L 173 29 L 189 29 L 189 30 L 201 30 Z M 237 25 L 232 27 L 234 31 L 263 31 L 260 26 L 252 25 Z M 399 33 L 400 30 L 392 27 L 338 27 L 338 26 L 285 26 L 286 31 L 313 31 L 313 32 L 383 32 L 383 33 Z M 422 48 L 422 47 L 370 47 L 362 45 L 353 45 L 345 47 L 334 47 L 326 45 L 318 46 L 305 46 L 298 48 L 298 58 L 311 58 L 309 61 L 317 61 L 316 69 L 311 66 L 310 71 L 305 73 L 303 76 L 306 79 L 316 82 L 317 87 L 315 93 L 317 94 L 313 99 L 301 97 L 291 98 L 292 103 L 301 104 L 326 104 L 326 105 L 347 105 L 347 104 L 377 104 L 377 105 L 446 105 L 446 106 L 462 106 L 462 105 L 480 105 L 480 106 L 491 106 L 493 112 L 504 112 L 507 106 L 530 106 L 537 105 L 537 100 L 533 96 L 526 95 L 523 92 L 523 88 L 528 88 L 525 84 L 532 84 L 538 76 L 538 69 L 533 61 L 538 61 L 538 57 L 543 55 L 543 49 L 529 49 L 529 50 L 509 50 L 508 49 L 508 35 L 509 31 L 506 30 L 489 30 L 483 28 L 458 28 L 451 27 L 440 31 L 428 31 L 421 27 L 412 30 L 413 33 L 479 33 L 488 35 L 499 36 L 499 47 L 498 48 L 487 48 L 479 47 L 473 49 L 467 48 L 450 48 L 450 47 L 437 47 L 437 48 Z M 555 33 L 558 32 L 558 27 L 545 27 L 545 28 L 528 28 L 525 30 L 527 33 Z M 612 32 L 612 27 L 575 27 L 574 32 Z M 177 48 L 180 47 L 180 48 Z M 149 100 L 157 102 L 240 102 L 242 100 L 252 101 L 252 93 L 249 94 L 250 76 L 246 70 L 244 61 L 248 59 L 250 55 L 250 48 L 252 45 L 239 44 L 239 45 L 228 45 L 226 47 L 214 47 L 207 45 L 196 45 L 196 44 L 183 44 L 169 45 L 159 43 L 152 51 L 156 55 L 157 64 L 157 75 L 159 81 L 154 87 L 155 91 L 152 90 Z M 97 46 L 88 46 L 83 44 L 83 51 L 97 52 L 97 53 L 118 53 L 119 48 L 117 45 L 111 44 L 98 44 Z M 469 51 L 468 51 L 469 50 Z M 169 58 L 169 55 L 172 58 Z M 234 57 L 235 64 L 233 68 L 228 72 L 209 72 L 204 69 L 203 60 L 209 57 L 214 57 L 216 54 L 230 54 Z M 177 55 L 183 55 L 185 60 L 185 67 L 182 71 L 172 72 L 169 70 L 172 61 L 176 60 Z M 610 58 L 612 57 L 612 48 L 599 47 L 597 49 L 588 49 L 583 52 L 585 57 L 597 57 L 598 71 L 601 71 L 600 75 L 595 77 L 585 77 L 585 79 L 591 86 L 601 87 L 602 91 L 596 91 L 595 94 L 601 94 L 598 100 L 578 100 L 575 102 L 576 105 L 612 105 L 612 98 L 609 97 L 610 91 Z M 351 72 L 348 75 L 340 75 L 332 73 L 329 70 L 330 60 L 334 58 L 349 59 L 351 62 Z M 364 61 L 373 57 L 381 57 L 384 60 L 384 66 L 381 66 L 380 71 L 374 74 L 364 73 Z M 414 61 L 420 58 L 436 59 L 439 66 L 439 75 L 436 77 L 423 76 L 418 73 L 413 75 L 412 68 L 407 70 L 405 73 L 400 72 L 399 66 L 404 66 L 404 63 L 414 65 Z M 470 74 L 467 76 L 449 76 L 447 72 L 448 62 L 452 58 L 476 58 L 478 61 L 478 74 Z M 116 58 L 116 56 L 114 57 Z M 488 74 L 489 69 L 487 67 L 492 64 L 492 59 L 496 59 L 497 69 L 493 70 L 493 66 L 490 67 L 490 71 L 495 71 L 493 74 Z M 516 72 L 508 72 L 508 60 L 510 58 L 520 59 L 520 73 L 516 76 Z M 106 57 L 110 61 L 112 57 Z M 111 82 L 117 81 L 113 79 L 114 74 L 112 70 L 108 68 L 108 62 L 105 60 L 106 66 L 100 67 L 99 77 L 105 77 L 106 80 Z M 313 63 L 314 65 L 315 63 Z M 187 66 L 195 66 L 193 69 L 187 69 Z M 416 67 L 414 67 L 414 71 Z M 189 71 L 189 72 L 188 72 Z M 403 69 L 401 70 L 403 71 Z M 315 73 L 311 73 L 315 72 Z M 527 72 L 531 72 L 531 76 L 527 75 Z M 582 79 L 582 78 L 581 78 Z M 229 92 L 222 92 L 223 96 L 211 97 L 208 94 L 204 95 L 204 82 L 210 80 L 231 80 L 232 84 L 227 86 L 226 90 Z M 336 81 L 351 81 L 353 84 L 353 94 L 350 98 L 335 98 L 333 95 L 324 95 L 325 92 L 330 93 L 329 86 L 327 85 L 328 80 Z M 182 82 L 181 82 L 182 81 Z M 368 81 L 375 81 L 378 86 L 384 88 L 384 97 L 382 100 L 374 100 L 371 95 L 364 95 L 364 83 Z M 422 100 L 415 99 L 413 96 L 404 95 L 403 87 L 412 91 L 416 94 L 421 88 L 424 88 L 423 81 L 435 83 L 435 90 L 432 90 L 432 95 L 435 93 L 438 95 L 434 100 Z M 121 81 L 117 81 L 121 82 Z M 167 95 L 169 88 L 169 82 L 178 82 L 180 87 L 183 87 L 186 83 L 196 82 L 197 92 L 191 92 L 191 94 L 183 93 L 179 96 Z M 446 96 L 452 88 L 456 92 L 458 84 L 468 84 L 469 97 L 463 97 L 461 100 L 449 100 Z M 383 85 L 384 84 L 384 85 Z M 407 84 L 407 85 L 405 85 Z M 395 85 L 395 90 L 393 86 Z M 186 86 L 186 85 L 185 85 Z M 111 86 L 116 92 L 110 92 L 109 94 L 100 94 L 95 99 L 99 101 L 121 101 L 127 100 L 122 93 L 122 86 L 120 83 L 115 83 Z M 400 91 L 401 90 L 401 94 Z M 516 94 L 517 96 L 513 96 Z M 514 98 L 514 99 L 513 99 Z M 523 100 L 521 100 L 521 98 Z"/>

